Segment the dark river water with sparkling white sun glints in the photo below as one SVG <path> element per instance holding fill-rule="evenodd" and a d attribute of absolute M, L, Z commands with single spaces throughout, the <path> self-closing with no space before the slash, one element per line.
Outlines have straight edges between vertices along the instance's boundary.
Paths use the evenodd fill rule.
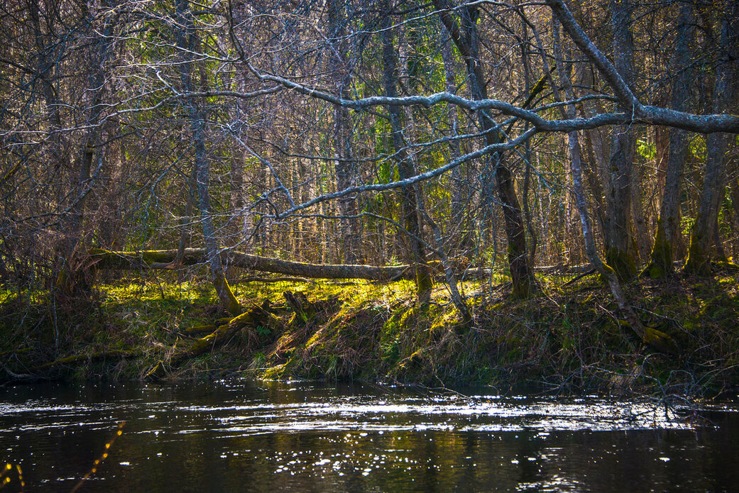
<path fill-rule="evenodd" d="M 739 491 L 739 413 L 638 401 L 220 382 L 0 388 L 26 491 Z M 0 464 L 1 466 L 1 464 Z M 17 491 L 17 472 L 3 489 Z"/>

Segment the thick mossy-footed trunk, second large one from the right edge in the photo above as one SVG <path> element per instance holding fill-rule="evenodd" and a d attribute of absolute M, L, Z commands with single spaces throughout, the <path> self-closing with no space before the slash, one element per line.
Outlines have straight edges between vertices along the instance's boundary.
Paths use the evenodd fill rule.
<path fill-rule="evenodd" d="M 675 40 L 675 69 L 679 76 L 672 86 L 672 109 L 684 111 L 687 108 L 690 84 L 690 43 L 693 38 L 692 7 L 681 4 L 678 17 L 677 39 Z M 670 143 L 667 145 L 667 173 L 664 179 L 662 201 L 659 206 L 657 232 L 650 263 L 644 272 L 650 277 L 665 277 L 672 274 L 675 239 L 680 234 L 680 190 L 683 179 L 685 159 L 687 158 L 687 132 L 680 128 L 670 129 Z"/>

